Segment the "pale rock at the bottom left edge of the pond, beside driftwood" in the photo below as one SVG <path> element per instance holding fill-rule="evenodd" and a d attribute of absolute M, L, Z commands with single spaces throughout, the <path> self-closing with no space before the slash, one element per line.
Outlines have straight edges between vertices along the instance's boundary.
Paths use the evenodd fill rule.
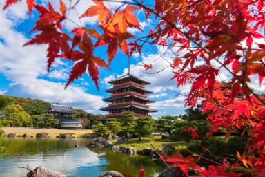
<path fill-rule="evenodd" d="M 27 177 L 66 177 L 65 174 L 61 174 L 57 171 L 50 171 L 50 169 L 46 169 L 45 167 L 39 166 L 36 167 L 33 171 L 28 172 Z"/>

